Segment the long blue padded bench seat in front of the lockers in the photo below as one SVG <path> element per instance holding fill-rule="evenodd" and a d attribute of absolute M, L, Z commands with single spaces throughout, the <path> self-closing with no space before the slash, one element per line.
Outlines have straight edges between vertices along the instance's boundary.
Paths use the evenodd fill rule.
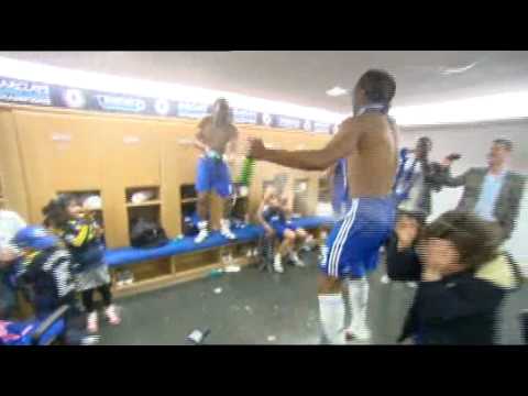
<path fill-rule="evenodd" d="M 314 216 L 293 219 L 292 222 L 297 227 L 315 229 L 324 223 L 331 224 L 333 220 L 329 217 Z M 220 232 L 215 231 L 211 232 L 209 238 L 199 245 L 194 242 L 194 237 L 185 237 L 179 240 L 173 240 L 162 248 L 120 248 L 107 250 L 105 258 L 110 267 L 116 267 L 148 260 L 168 257 L 172 255 L 200 252 L 212 248 L 255 241 L 264 234 L 264 228 L 262 226 L 249 224 L 242 229 L 234 229 L 233 232 L 237 235 L 237 240 L 232 242 L 223 238 Z"/>

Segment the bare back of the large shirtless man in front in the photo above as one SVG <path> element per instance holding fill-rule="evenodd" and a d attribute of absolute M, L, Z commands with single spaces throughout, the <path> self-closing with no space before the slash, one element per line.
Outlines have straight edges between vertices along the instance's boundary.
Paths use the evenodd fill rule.
<path fill-rule="evenodd" d="M 360 133 L 358 150 L 346 157 L 350 197 L 389 195 L 398 162 L 395 128 L 392 128 L 386 116 L 377 113 L 366 113 L 353 121 L 345 120 L 341 127 L 343 133 L 348 133 L 348 125 Z"/>

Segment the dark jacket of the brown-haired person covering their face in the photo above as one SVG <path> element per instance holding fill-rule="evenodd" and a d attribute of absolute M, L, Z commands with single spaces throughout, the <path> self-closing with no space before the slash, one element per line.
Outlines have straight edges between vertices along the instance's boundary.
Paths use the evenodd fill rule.
<path fill-rule="evenodd" d="M 506 293 L 518 286 L 513 261 L 502 254 L 476 273 L 462 272 L 438 282 L 420 282 L 398 342 L 418 344 L 493 344 L 497 312 Z M 397 237 L 387 245 L 387 274 L 397 280 L 420 280 L 415 249 L 397 251 Z"/>

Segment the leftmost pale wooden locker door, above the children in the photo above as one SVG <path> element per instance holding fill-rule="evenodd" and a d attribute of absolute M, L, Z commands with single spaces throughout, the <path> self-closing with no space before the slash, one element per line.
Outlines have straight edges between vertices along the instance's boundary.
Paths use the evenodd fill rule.
<path fill-rule="evenodd" d="M 101 156 L 98 121 L 91 117 L 15 111 L 28 178 L 32 221 L 56 191 L 98 190 Z"/>

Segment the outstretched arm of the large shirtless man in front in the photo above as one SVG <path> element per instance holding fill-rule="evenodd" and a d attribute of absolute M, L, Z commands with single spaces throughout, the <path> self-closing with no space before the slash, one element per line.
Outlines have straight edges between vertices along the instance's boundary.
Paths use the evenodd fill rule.
<path fill-rule="evenodd" d="M 320 150 L 272 150 L 266 148 L 260 139 L 250 139 L 250 156 L 255 160 L 304 169 L 324 170 L 339 158 L 346 157 L 358 150 L 362 123 L 356 119 L 344 121 L 333 139 Z"/>

